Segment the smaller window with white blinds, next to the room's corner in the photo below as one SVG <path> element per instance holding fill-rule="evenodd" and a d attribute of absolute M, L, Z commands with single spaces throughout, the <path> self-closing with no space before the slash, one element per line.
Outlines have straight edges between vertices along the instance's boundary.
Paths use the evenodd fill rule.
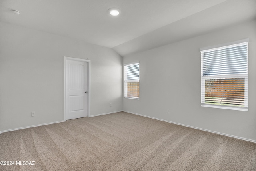
<path fill-rule="evenodd" d="M 124 97 L 140 97 L 140 64 L 139 62 L 124 65 Z"/>

